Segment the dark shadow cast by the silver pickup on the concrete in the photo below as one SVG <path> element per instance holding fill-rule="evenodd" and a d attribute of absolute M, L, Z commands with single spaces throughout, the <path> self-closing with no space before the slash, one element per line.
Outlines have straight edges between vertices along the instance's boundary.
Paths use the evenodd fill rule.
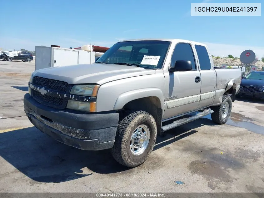
<path fill-rule="evenodd" d="M 172 129 L 165 137 L 157 137 L 154 151 L 197 132 L 191 129 L 212 124 L 211 120 L 201 118 Z M 172 138 L 175 136 L 178 137 Z M 112 158 L 110 150 L 79 150 L 53 140 L 35 127 L 0 133 L 0 156 L 36 182 L 59 183 L 86 176 L 89 179 L 93 172 L 120 174 L 130 171 Z M 1 164 L 7 165 L 6 162 Z"/>

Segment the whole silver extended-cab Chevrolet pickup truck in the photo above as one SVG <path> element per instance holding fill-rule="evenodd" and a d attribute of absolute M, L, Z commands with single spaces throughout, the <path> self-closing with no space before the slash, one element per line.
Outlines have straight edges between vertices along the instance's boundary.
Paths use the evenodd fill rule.
<path fill-rule="evenodd" d="M 169 129 L 208 114 L 226 123 L 240 82 L 241 70 L 214 68 L 202 43 L 126 40 L 95 63 L 33 72 L 24 108 L 55 140 L 82 150 L 111 149 L 120 164 L 135 167 Z"/>

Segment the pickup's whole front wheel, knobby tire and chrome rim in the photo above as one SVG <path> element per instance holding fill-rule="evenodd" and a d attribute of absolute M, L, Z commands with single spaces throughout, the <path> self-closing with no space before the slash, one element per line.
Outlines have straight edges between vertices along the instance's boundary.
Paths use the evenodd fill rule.
<path fill-rule="evenodd" d="M 157 137 L 157 125 L 151 114 L 132 111 L 118 124 L 111 153 L 118 163 L 136 167 L 151 153 Z"/>

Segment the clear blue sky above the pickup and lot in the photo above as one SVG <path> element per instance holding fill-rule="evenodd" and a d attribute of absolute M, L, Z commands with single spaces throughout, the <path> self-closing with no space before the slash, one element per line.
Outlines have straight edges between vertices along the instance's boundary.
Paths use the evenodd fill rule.
<path fill-rule="evenodd" d="M 1 2 L 0 48 L 34 50 L 35 45 L 110 47 L 123 39 L 180 38 L 206 43 L 215 56 L 246 49 L 264 55 L 261 17 L 192 17 L 191 3 L 249 3 L 248 0 L 27 0 Z M 250 3 L 262 3 L 253 0 Z M 3 9 L 10 7 L 12 9 Z M 264 5 L 262 3 L 262 5 Z M 2 39 L 4 38 L 4 39 Z"/>

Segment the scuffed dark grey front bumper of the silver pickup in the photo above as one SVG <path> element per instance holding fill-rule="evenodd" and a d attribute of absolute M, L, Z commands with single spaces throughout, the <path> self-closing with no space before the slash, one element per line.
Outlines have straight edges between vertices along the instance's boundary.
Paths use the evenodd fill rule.
<path fill-rule="evenodd" d="M 87 114 L 47 107 L 24 96 L 28 119 L 43 133 L 66 145 L 82 150 L 112 148 L 118 126 L 118 113 Z"/>

